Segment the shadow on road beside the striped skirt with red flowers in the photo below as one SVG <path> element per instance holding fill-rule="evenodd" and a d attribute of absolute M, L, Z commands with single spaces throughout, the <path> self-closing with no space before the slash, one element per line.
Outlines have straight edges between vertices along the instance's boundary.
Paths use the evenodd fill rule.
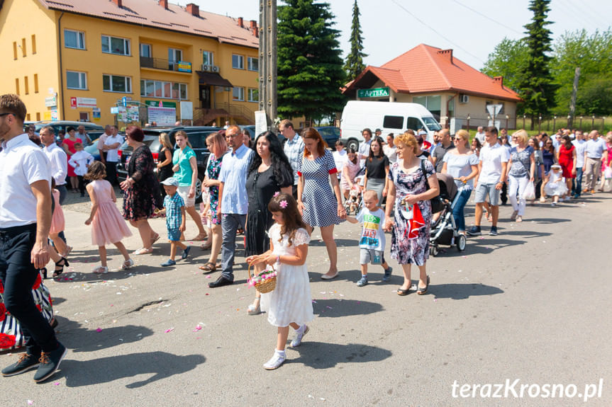
<path fill-rule="evenodd" d="M 113 326 L 98 332 L 96 328 L 84 328 L 80 323 L 62 316 L 56 316 L 56 319 L 59 323 L 58 336 L 66 348 L 72 349 L 72 352 L 93 352 L 112 348 L 123 343 L 138 342 L 153 334 L 153 331 L 145 326 Z"/>

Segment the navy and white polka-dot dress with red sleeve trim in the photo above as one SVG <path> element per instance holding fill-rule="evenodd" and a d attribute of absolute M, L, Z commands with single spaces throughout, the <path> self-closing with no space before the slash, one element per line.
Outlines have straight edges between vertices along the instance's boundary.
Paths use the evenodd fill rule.
<path fill-rule="evenodd" d="M 326 150 L 315 160 L 306 157 L 301 161 L 298 173 L 304 178 L 304 222 L 311 227 L 326 227 L 344 222 L 338 217 L 338 200 L 330 185 L 330 174 L 338 172 L 333 155 Z"/>

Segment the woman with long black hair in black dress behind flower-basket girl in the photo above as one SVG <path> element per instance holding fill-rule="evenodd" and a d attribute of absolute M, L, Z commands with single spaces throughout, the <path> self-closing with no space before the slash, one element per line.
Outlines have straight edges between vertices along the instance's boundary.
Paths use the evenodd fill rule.
<path fill-rule="evenodd" d="M 267 231 L 272 224 L 268 203 L 275 193 L 291 195 L 294 176 L 289 159 L 284 154 L 279 138 L 273 132 L 265 132 L 255 139 L 253 156 L 247 176 L 249 210 L 246 224 L 246 256 L 256 256 L 269 249 Z M 255 266 L 255 273 L 261 270 Z M 260 297 L 247 310 L 248 314 L 260 313 Z"/>

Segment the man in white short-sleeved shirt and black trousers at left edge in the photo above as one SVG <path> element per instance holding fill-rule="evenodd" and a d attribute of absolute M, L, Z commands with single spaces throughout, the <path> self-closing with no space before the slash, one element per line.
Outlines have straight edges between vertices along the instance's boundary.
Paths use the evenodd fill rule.
<path fill-rule="evenodd" d="M 21 324 L 26 353 L 2 369 L 13 376 L 38 367 L 35 382 L 48 379 L 66 355 L 66 348 L 38 311 L 32 286 L 50 260 L 50 162 L 23 132 L 26 105 L 16 95 L 0 96 L 0 281 L 4 306 Z"/>

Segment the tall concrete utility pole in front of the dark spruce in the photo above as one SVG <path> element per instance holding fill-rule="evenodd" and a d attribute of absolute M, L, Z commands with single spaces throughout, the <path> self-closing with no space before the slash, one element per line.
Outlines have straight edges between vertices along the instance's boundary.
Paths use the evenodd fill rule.
<path fill-rule="evenodd" d="M 259 96 L 271 129 L 277 117 L 277 0 L 260 0 Z"/>

